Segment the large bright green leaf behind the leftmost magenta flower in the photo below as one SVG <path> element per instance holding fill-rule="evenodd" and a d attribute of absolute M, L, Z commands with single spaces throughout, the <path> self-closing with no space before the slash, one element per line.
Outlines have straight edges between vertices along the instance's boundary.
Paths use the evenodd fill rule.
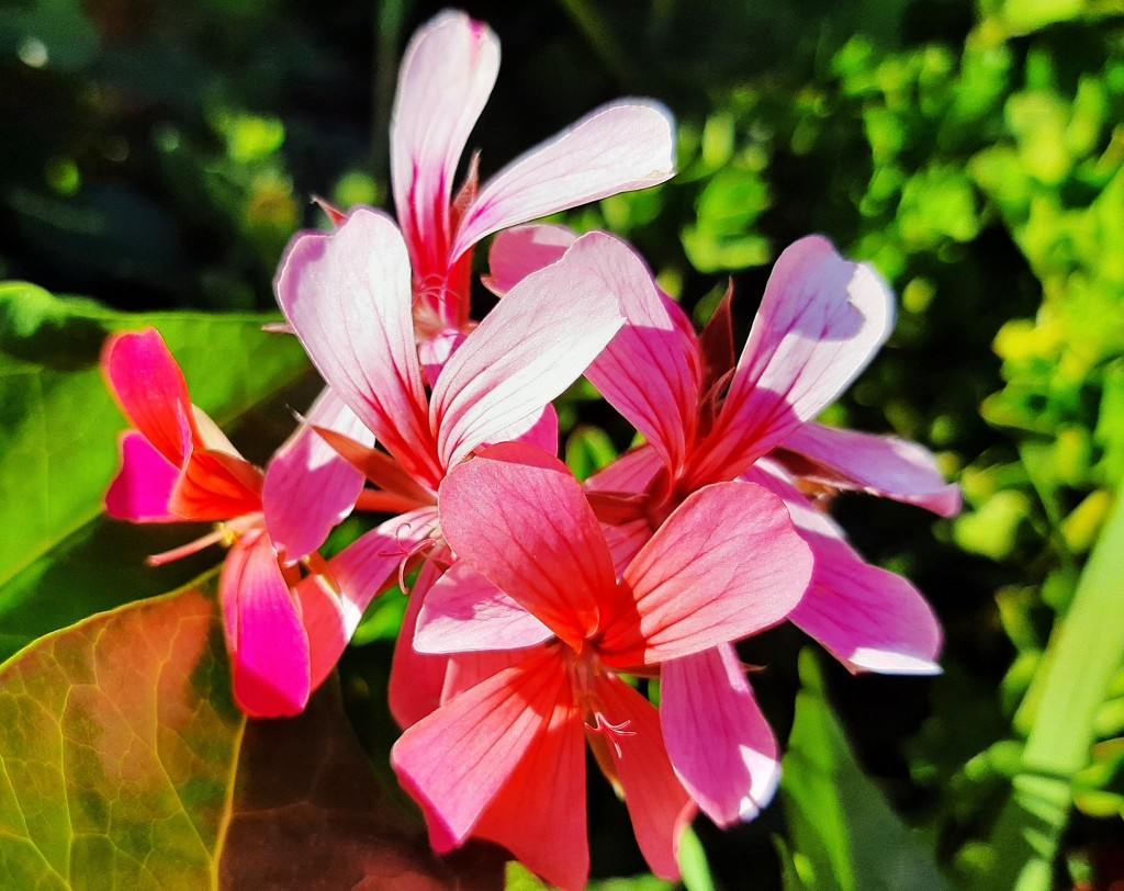
<path fill-rule="evenodd" d="M 226 425 L 308 369 L 296 338 L 262 331 L 265 320 L 132 316 L 29 284 L 0 285 L 0 658 L 100 609 L 167 591 L 201 569 L 198 562 L 144 567 L 146 554 L 188 540 L 185 527 L 100 520 L 126 424 L 98 365 L 106 337 L 154 325 L 196 403 Z"/>

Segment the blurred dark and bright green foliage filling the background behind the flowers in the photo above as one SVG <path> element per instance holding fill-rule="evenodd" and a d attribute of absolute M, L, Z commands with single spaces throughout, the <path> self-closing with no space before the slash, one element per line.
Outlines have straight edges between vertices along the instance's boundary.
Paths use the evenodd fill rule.
<path fill-rule="evenodd" d="M 320 222 L 312 194 L 387 202 L 397 53 L 439 6 L 0 9 L 0 274 L 126 309 L 271 306 L 287 239 Z M 1124 879 L 1124 673 L 1118 645 L 1096 643 L 1124 616 L 1121 552 L 1105 544 L 1124 483 L 1124 4 L 464 6 L 504 44 L 472 139 L 486 174 L 600 101 L 662 99 L 680 118 L 677 179 L 566 220 L 634 239 L 699 319 L 733 276 L 743 333 L 795 238 L 822 231 L 871 261 L 899 294 L 898 325 L 825 419 L 917 439 L 963 484 L 954 521 L 859 497 L 836 511 L 860 551 L 934 603 L 942 678 L 825 664 L 821 681 L 798 671 L 805 642 L 783 629 L 746 647 L 768 666 L 754 684 L 782 738 L 796 720 L 796 755 L 782 801 L 754 824 L 697 827 L 715 887 L 864 874 L 874 848 L 834 806 L 808 806 L 819 780 L 800 757 L 835 763 L 841 800 L 924 848 L 917 862 L 951 887 Z M 89 333 L 56 330 L 62 310 L 31 300 L 4 304 L 4 349 L 62 338 L 58 362 L 76 372 Z M 588 397 L 577 387 L 560 407 L 581 476 L 631 435 Z M 364 715 L 384 708 L 401 610 L 379 601 L 343 669 L 377 761 L 388 735 Z M 595 873 L 640 871 L 619 803 L 591 790 L 591 806 Z M 645 881 L 604 888 L 663 887 Z"/>

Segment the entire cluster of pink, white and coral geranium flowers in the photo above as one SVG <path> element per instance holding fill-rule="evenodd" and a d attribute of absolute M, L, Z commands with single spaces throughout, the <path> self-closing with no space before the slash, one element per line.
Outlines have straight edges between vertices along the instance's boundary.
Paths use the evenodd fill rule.
<path fill-rule="evenodd" d="M 821 510 L 852 489 L 942 515 L 932 457 L 816 416 L 892 325 L 869 266 L 805 238 L 780 257 L 738 358 L 729 297 L 696 334 L 611 235 L 531 220 L 673 173 L 652 102 L 605 106 L 455 192 L 499 64 L 495 35 L 445 12 L 410 43 L 391 127 L 397 224 L 328 208 L 278 274 L 291 331 L 326 382 L 263 471 L 191 404 L 153 330 L 105 354 L 134 430 L 109 512 L 212 521 L 155 560 L 223 542 L 234 692 L 301 711 L 373 598 L 414 574 L 390 701 L 392 752 L 438 852 L 496 842 L 545 880 L 588 875 L 586 755 L 622 792 L 652 870 L 682 828 L 768 802 L 777 743 L 735 644 L 790 620 L 853 671 L 937 671 L 940 628 Z M 471 318 L 473 247 L 499 302 Z M 644 444 L 584 483 L 556 457 L 552 400 L 582 374 Z M 332 560 L 354 509 L 383 517 Z M 660 683 L 660 708 L 635 681 Z"/>

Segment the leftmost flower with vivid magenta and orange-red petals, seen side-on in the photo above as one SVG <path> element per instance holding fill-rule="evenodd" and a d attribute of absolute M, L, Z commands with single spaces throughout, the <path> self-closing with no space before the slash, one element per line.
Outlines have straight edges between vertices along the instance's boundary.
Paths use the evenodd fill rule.
<path fill-rule="evenodd" d="M 324 665 L 327 642 L 310 633 L 292 585 L 299 564 L 314 572 L 323 564 L 315 552 L 351 512 L 362 475 L 307 427 L 278 449 L 263 474 L 191 404 L 183 373 L 151 328 L 112 337 L 102 365 L 136 427 L 121 438 L 123 466 L 106 495 L 107 511 L 134 522 L 219 522 L 211 535 L 153 561 L 229 544 L 219 593 L 235 698 L 254 717 L 300 712 L 332 665 Z M 330 393 L 317 400 L 309 419 L 364 436 Z M 337 609 L 330 600 L 323 607 Z"/>

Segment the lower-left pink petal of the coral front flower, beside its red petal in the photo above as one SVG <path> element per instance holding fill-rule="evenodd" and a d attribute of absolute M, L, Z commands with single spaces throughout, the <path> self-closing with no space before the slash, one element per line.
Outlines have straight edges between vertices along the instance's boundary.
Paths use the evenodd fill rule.
<path fill-rule="evenodd" d="M 566 699 L 560 648 L 535 649 L 407 728 L 390 762 L 441 834 L 460 845 Z"/>

